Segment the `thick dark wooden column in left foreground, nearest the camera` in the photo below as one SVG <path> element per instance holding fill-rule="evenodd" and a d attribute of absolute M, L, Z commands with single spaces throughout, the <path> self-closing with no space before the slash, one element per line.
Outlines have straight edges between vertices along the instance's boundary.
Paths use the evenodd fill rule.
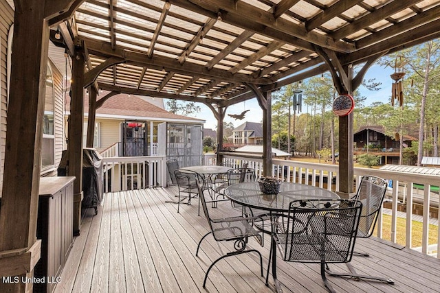
<path fill-rule="evenodd" d="M 49 27 L 45 5 L 14 12 L 12 69 L 0 213 L 0 277 L 32 277 L 40 258 L 36 220 L 41 171 Z M 5 280 L 5 279 L 3 279 Z M 8 280 L 8 279 L 6 279 Z M 0 292 L 32 291 L 32 282 L 1 281 Z"/>

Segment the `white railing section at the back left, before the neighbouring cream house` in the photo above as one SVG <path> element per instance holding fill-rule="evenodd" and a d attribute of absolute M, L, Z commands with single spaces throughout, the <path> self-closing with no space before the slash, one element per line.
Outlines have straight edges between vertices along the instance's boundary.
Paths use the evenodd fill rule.
<path fill-rule="evenodd" d="M 165 156 L 103 158 L 104 192 L 166 186 Z"/>

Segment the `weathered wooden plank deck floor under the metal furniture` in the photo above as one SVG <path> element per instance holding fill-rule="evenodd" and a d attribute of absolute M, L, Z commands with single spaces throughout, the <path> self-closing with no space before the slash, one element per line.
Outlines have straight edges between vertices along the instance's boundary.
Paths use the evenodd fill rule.
<path fill-rule="evenodd" d="M 273 292 L 273 285 L 265 286 L 258 257 L 252 254 L 219 261 L 210 271 L 206 290 L 202 288 L 208 266 L 228 246 L 207 237 L 196 257 L 197 243 L 208 231 L 206 219 L 197 215 L 197 200 L 181 204 L 177 213 L 177 204 L 165 202 L 175 200 L 175 193 L 171 187 L 106 194 L 98 215 L 93 215 L 93 209 L 85 213 L 55 292 Z M 225 208 L 220 206 L 216 212 Z M 261 250 L 265 274 L 269 237 L 263 248 L 254 239 L 249 244 Z M 395 285 L 328 277 L 336 291 L 439 292 L 440 259 L 373 237 L 358 239 L 356 247 L 371 254 L 353 257 L 358 272 L 380 272 Z M 283 292 L 327 292 L 318 264 L 279 259 L 278 279 Z"/>

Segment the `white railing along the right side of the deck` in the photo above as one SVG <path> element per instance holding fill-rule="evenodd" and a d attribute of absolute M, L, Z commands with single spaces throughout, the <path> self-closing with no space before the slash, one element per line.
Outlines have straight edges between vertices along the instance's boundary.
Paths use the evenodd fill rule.
<path fill-rule="evenodd" d="M 223 161 L 230 165 L 240 167 L 248 162 L 249 167 L 256 170 L 256 176 L 259 178 L 263 174 L 263 160 L 252 159 L 250 156 L 232 156 L 223 155 Z M 272 176 L 283 178 L 288 182 L 300 182 L 307 185 L 314 185 L 329 190 L 339 191 L 338 165 L 327 165 L 318 163 L 303 163 L 299 161 L 272 160 Z M 421 252 L 428 254 L 432 251 L 432 244 L 428 245 L 429 224 L 432 211 L 431 209 L 439 207 L 439 194 L 430 191 L 431 185 L 440 184 L 440 176 L 432 174 L 411 174 L 408 172 L 389 171 L 372 168 L 355 167 L 353 174 L 355 176 L 358 189 L 360 178 L 364 175 L 379 176 L 386 180 L 393 180 L 393 187 L 387 191 L 387 200 L 391 202 L 391 242 L 397 241 L 397 207 L 399 204 L 406 204 L 406 207 L 412 207 L 413 203 L 421 204 L 423 207 L 423 232 L 421 239 Z M 414 185 L 424 185 L 423 194 Z M 438 217 L 438 214 L 437 214 Z M 383 213 L 377 220 L 377 237 L 382 238 L 384 233 L 382 225 Z M 405 246 L 412 248 L 412 208 L 406 209 L 406 231 Z M 387 231 L 388 232 L 388 231 Z M 437 251 L 440 248 L 440 225 L 437 225 Z"/>

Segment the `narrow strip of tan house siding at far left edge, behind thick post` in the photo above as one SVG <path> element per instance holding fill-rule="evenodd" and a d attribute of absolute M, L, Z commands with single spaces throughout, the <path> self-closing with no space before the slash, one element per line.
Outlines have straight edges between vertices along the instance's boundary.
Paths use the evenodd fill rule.
<path fill-rule="evenodd" d="M 6 117 L 8 116 L 8 86 L 6 82 L 6 58 L 8 32 L 14 20 L 14 10 L 5 0 L 0 0 L 0 196 L 3 190 L 3 161 L 6 144 Z"/>

